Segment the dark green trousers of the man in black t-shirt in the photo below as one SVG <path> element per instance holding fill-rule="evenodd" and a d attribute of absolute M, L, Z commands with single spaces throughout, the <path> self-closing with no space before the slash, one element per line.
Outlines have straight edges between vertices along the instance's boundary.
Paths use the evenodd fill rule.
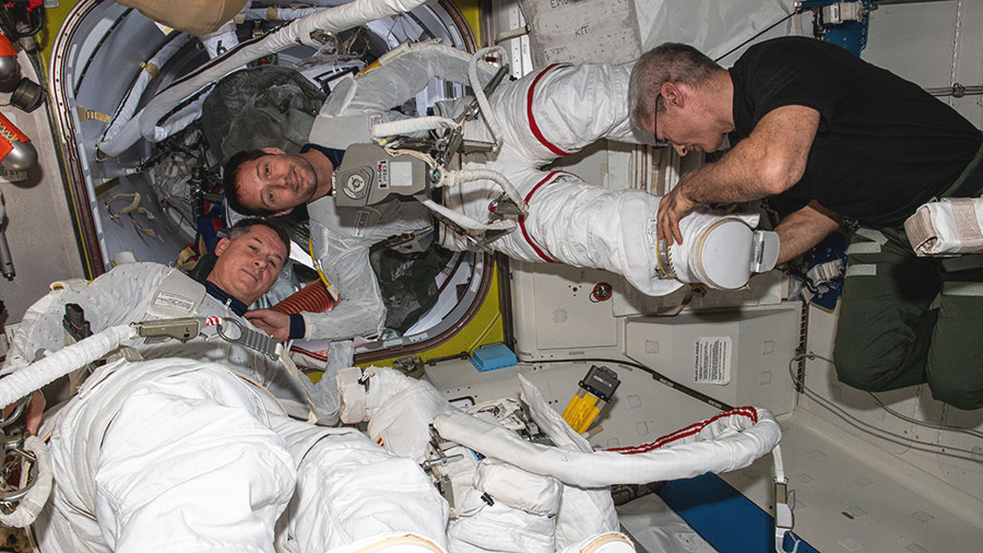
<path fill-rule="evenodd" d="M 903 228 L 886 228 L 854 234 L 846 259 L 839 379 L 869 391 L 927 383 L 939 401 L 983 408 L 983 255 L 920 258 Z"/>

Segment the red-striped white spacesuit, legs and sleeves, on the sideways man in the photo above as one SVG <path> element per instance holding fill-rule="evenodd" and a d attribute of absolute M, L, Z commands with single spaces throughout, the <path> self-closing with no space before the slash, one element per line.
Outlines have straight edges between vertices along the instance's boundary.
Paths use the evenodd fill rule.
<path fill-rule="evenodd" d="M 335 149 L 368 142 L 374 125 L 400 117 L 389 108 L 412 98 L 433 78 L 469 82 L 469 56 L 433 43 L 404 46 L 381 62 L 380 68 L 333 91 L 315 121 L 310 142 Z M 476 68 L 483 83 L 494 74 L 485 62 Z M 488 247 L 525 261 L 607 269 L 649 295 L 668 294 L 684 282 L 736 289 L 753 272 L 771 269 L 778 237 L 753 231 L 755 214 L 723 216 L 698 210 L 680 223 L 685 246 L 660 249 L 655 236 L 659 197 L 642 190 L 608 190 L 567 172 L 542 170 L 558 156 L 602 138 L 636 142 L 628 121 L 629 73 L 628 66 L 552 66 L 505 83 L 492 94 L 492 118 L 501 129 L 501 145 L 497 152 L 464 156 L 463 168 L 506 175 L 530 212 L 519 217 L 518 228 Z M 486 118 L 487 114 L 466 121 L 465 139 L 492 142 Z M 445 203 L 486 222 L 489 205 L 500 196 L 498 186 L 477 180 L 446 190 Z M 305 314 L 307 337 L 331 338 L 339 328 L 378 332 L 384 311 L 368 249 L 390 236 L 429 228 L 431 214 L 413 201 L 337 208 L 333 197 L 317 200 L 308 209 L 315 255 L 345 301 L 327 314 Z M 439 238 L 449 249 L 474 248 L 443 226 Z M 341 311 L 346 302 L 351 302 L 347 310 Z M 352 325 L 339 325 L 342 315 Z"/>

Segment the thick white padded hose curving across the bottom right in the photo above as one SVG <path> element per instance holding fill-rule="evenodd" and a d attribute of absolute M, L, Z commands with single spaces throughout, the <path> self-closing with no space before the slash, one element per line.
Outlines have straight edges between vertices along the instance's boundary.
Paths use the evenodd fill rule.
<path fill-rule="evenodd" d="M 434 419 L 434 427 L 450 442 L 486 457 L 510 462 L 536 474 L 550 474 L 579 487 L 613 484 L 646 484 L 719 473 L 749 466 L 771 451 L 781 428 L 774 416 L 757 409 L 757 422 L 746 416 L 711 420 L 699 433 L 678 445 L 652 451 L 623 455 L 614 451 L 581 452 L 523 440 L 514 432 L 460 411 Z M 720 436 L 720 437 L 718 437 Z"/>

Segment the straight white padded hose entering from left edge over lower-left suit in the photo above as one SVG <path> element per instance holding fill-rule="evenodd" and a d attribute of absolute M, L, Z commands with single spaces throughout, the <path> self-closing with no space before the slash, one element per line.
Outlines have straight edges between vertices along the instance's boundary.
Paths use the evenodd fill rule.
<path fill-rule="evenodd" d="M 19 369 L 0 379 L 0 405 L 9 405 L 42 389 L 46 384 L 98 360 L 135 336 L 137 329 L 129 325 L 109 327 Z"/>

